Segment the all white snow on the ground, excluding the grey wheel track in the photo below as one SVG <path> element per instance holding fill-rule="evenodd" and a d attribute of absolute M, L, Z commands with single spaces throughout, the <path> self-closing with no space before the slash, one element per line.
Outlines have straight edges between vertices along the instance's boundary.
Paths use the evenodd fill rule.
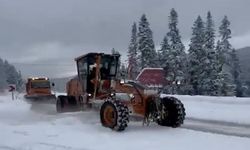
<path fill-rule="evenodd" d="M 247 110 L 249 99 L 178 97 L 183 100 L 188 117 L 248 123 L 244 120 L 250 114 L 250 109 Z M 7 94 L 0 96 L 0 150 L 2 149 L 249 150 L 250 138 L 173 129 L 155 124 L 142 126 L 141 122 L 133 121 L 124 132 L 115 132 L 101 126 L 97 112 L 56 114 L 53 105 L 38 111 L 22 98 L 12 101 Z"/>

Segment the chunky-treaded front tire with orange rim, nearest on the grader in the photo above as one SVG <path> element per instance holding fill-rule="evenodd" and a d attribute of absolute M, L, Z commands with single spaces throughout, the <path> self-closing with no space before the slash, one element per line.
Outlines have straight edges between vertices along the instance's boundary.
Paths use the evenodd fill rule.
<path fill-rule="evenodd" d="M 119 101 L 106 101 L 101 106 L 100 119 L 104 127 L 123 131 L 128 126 L 128 107 Z"/>

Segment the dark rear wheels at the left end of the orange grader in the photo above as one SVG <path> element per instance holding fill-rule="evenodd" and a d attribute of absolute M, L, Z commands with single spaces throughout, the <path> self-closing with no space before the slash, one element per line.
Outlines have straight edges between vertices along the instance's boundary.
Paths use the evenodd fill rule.
<path fill-rule="evenodd" d="M 76 112 L 82 110 L 82 105 L 74 96 L 59 95 L 56 100 L 56 111 L 58 113 Z"/>

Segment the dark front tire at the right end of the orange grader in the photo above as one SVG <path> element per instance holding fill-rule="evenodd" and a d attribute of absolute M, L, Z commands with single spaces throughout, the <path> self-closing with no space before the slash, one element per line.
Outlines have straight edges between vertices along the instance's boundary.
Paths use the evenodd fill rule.
<path fill-rule="evenodd" d="M 175 97 L 164 97 L 160 104 L 160 118 L 157 123 L 161 126 L 179 127 L 185 120 L 185 108 Z"/>

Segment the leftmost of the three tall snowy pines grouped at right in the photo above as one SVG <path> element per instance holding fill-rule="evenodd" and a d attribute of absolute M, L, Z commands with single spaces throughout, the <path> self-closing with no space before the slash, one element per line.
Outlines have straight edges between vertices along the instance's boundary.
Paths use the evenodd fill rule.
<path fill-rule="evenodd" d="M 191 43 L 189 44 L 189 74 L 193 94 L 202 94 L 201 83 L 205 76 L 204 67 L 207 62 L 206 51 L 204 50 L 204 23 L 200 16 L 194 22 Z"/>

